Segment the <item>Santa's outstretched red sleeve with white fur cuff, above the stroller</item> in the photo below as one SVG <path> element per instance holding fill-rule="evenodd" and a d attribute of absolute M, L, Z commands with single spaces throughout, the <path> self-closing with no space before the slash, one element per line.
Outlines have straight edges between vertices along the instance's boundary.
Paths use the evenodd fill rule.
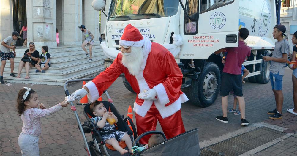
<path fill-rule="evenodd" d="M 108 89 L 119 75 L 123 73 L 118 57 L 113 61 L 110 67 L 97 75 L 92 81 L 86 83 L 85 87 L 89 89 L 87 96 L 91 102 L 97 100 L 102 95 L 103 91 Z"/>

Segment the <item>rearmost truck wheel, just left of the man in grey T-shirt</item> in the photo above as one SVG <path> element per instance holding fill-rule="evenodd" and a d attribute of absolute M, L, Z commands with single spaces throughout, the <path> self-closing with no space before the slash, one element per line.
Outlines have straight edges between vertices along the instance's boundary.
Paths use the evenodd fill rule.
<path fill-rule="evenodd" d="M 269 53 L 266 53 L 264 56 L 269 56 Z M 260 64 L 261 74 L 256 75 L 257 83 L 267 84 L 270 81 L 269 66 L 270 66 L 270 62 L 262 61 L 262 63 Z"/>

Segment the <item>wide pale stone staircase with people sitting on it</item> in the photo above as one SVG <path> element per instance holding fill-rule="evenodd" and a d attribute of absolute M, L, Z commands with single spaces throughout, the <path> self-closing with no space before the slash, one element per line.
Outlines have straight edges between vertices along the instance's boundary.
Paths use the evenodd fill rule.
<path fill-rule="evenodd" d="M 18 73 L 18 65 L 23 57 L 25 50 L 28 48 L 15 48 L 15 67 L 14 73 Z M 41 48 L 36 48 L 41 54 Z M 89 47 L 86 46 L 88 50 Z M 88 50 L 89 51 L 89 50 Z M 25 79 L 26 69 L 20 74 L 21 78 L 10 76 L 10 61 L 6 61 L 3 78 L 8 83 L 33 83 L 47 85 L 64 85 L 64 82 L 70 79 L 85 78 L 96 75 L 104 70 L 104 55 L 100 45 L 94 45 L 92 48 L 92 61 L 89 56 L 86 57 L 85 51 L 80 46 L 60 46 L 49 48 L 48 53 L 51 55 L 51 66 L 45 73 L 35 73 L 36 68 L 31 67 L 29 70 L 30 78 Z M 0 64 L 1 66 L 1 64 Z"/>

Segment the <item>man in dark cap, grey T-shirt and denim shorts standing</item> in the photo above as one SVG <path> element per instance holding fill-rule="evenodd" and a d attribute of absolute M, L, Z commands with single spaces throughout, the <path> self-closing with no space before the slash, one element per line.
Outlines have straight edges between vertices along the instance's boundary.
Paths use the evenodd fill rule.
<path fill-rule="evenodd" d="M 285 66 L 288 59 L 288 52 L 290 50 L 289 42 L 283 38 L 283 36 L 286 36 L 286 30 L 286 27 L 281 24 L 277 24 L 273 27 L 272 35 L 274 39 L 277 39 L 277 42 L 275 42 L 272 57 L 263 57 L 264 61 L 270 61 L 269 77 L 277 105 L 273 111 L 267 112 L 267 114 L 271 115 L 269 116 L 269 119 L 282 119 L 282 104 L 284 102 L 282 78 L 285 74 Z"/>

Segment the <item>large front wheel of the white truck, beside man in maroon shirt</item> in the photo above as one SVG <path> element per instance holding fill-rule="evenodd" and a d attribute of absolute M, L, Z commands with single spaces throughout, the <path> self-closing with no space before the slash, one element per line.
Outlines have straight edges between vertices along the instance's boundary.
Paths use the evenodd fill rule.
<path fill-rule="evenodd" d="M 199 78 L 192 80 L 189 89 L 190 101 L 199 107 L 208 107 L 219 95 L 221 73 L 217 64 L 206 62 Z"/>

